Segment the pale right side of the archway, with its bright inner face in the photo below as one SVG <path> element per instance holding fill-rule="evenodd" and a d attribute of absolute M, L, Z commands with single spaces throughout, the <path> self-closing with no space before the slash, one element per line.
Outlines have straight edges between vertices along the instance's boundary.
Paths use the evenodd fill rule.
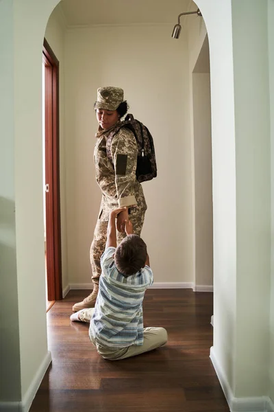
<path fill-rule="evenodd" d="M 268 394 L 270 146 L 266 1 L 232 1 L 232 5 L 223 1 L 222 7 L 215 0 L 196 3 L 206 21 L 210 43 L 214 211 L 211 356 L 233 404 L 234 397 L 261 399 Z M 201 44 L 202 25 L 196 26 L 196 43 Z"/>

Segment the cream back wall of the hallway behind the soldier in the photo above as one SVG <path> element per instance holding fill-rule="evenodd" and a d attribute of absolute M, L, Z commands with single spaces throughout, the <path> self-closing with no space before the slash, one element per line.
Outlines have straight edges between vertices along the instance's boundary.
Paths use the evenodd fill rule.
<path fill-rule="evenodd" d="M 93 150 L 97 87 L 125 90 L 129 113 L 151 130 L 158 177 L 143 183 L 142 237 L 155 282 L 192 282 L 192 214 L 187 43 L 170 25 L 66 32 L 66 182 L 69 282 L 89 283 L 89 248 L 101 194 Z"/>

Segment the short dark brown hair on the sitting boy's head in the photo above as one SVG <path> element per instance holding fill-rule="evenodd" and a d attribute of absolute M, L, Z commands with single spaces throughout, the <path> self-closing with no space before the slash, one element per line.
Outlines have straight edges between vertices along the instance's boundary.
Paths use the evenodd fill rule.
<path fill-rule="evenodd" d="M 147 245 L 138 235 L 128 235 L 114 254 L 114 262 L 120 273 L 125 277 L 134 275 L 145 266 L 147 260 Z"/>

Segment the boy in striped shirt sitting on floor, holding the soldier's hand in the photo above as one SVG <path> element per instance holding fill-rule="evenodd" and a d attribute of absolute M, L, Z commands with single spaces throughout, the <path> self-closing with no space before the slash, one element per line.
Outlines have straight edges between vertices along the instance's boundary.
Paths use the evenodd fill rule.
<path fill-rule="evenodd" d="M 153 273 L 147 246 L 133 234 L 131 222 L 125 221 L 127 236 L 117 247 L 115 220 L 124 209 L 110 213 L 95 308 L 71 315 L 72 321 L 90 322 L 90 340 L 97 352 L 110 360 L 142 354 L 167 341 L 164 328 L 143 327 L 142 301 L 153 283 Z"/>

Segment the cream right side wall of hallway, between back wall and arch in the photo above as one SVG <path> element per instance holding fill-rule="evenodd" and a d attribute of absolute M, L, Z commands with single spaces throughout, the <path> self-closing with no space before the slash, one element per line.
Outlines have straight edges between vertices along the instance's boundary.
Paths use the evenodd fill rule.
<path fill-rule="evenodd" d="M 196 10 L 197 5 L 190 2 L 189 11 Z M 209 52 L 206 47 L 208 38 L 203 18 L 195 14 L 182 16 L 182 24 L 186 27 L 189 59 L 193 273 L 195 290 L 199 290 L 199 285 L 203 285 L 205 290 L 204 286 L 213 284 L 211 114 L 210 95 L 206 97 L 204 93 L 206 89 L 201 82 L 202 77 L 198 80 L 194 72 L 209 73 L 210 71 Z M 201 96 L 199 96 L 200 92 Z M 203 110 L 204 104 L 207 106 L 205 110 Z M 203 139 L 201 134 L 205 131 L 206 138 Z M 206 156 L 203 156 L 203 150 L 206 150 Z M 201 158 L 203 165 L 200 164 Z M 206 186 L 202 185 L 201 181 L 206 183 Z M 203 201 L 203 194 L 206 195 L 205 201 Z"/>

